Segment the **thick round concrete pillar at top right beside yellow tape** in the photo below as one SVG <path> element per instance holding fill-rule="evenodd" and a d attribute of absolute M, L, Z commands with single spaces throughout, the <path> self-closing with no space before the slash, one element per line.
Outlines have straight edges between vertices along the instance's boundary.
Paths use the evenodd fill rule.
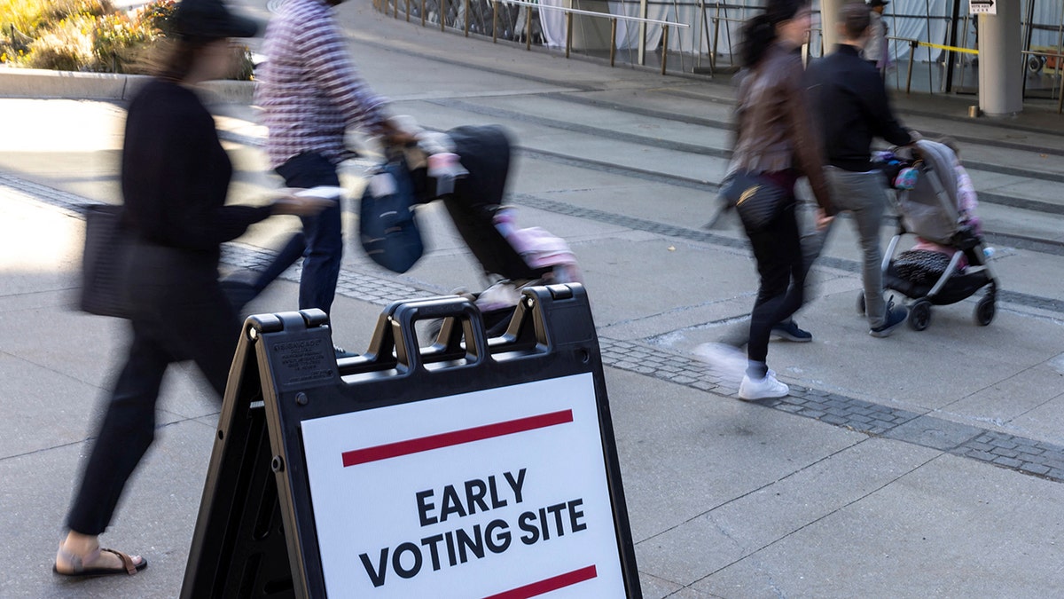
<path fill-rule="evenodd" d="M 1024 110 L 1020 2 L 995 4 L 996 15 L 979 15 L 979 110 L 987 116 L 1011 116 Z"/>

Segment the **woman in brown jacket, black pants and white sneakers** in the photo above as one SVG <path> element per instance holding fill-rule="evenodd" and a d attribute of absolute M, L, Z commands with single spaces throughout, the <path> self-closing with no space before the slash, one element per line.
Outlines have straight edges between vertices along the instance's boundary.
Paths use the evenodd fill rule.
<path fill-rule="evenodd" d="M 747 237 L 761 285 L 750 314 L 748 366 L 742 400 L 782 398 L 789 392 L 768 370 L 772 325 L 801 307 L 805 268 L 795 216 L 794 187 L 805 176 L 820 206 L 821 226 L 834 211 L 821 172 L 820 144 L 811 123 L 799 48 L 810 28 L 809 0 L 769 0 L 765 12 L 743 26 L 739 53 L 746 72 L 738 88 L 738 136 L 729 172 L 761 173 L 787 191 L 786 208 Z"/>

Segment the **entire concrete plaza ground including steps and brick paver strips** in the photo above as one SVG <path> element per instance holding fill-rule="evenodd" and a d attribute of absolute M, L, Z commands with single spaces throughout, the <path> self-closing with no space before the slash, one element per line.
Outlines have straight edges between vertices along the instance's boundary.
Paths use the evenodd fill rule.
<path fill-rule="evenodd" d="M 1013 295 L 990 327 L 971 324 L 974 303 L 964 302 L 942 307 L 927 331 L 878 340 L 853 313 L 857 245 L 848 226 L 837 227 L 817 269 L 816 302 L 801 314 L 814 342 L 770 350 L 795 392 L 738 402 L 734 382 L 689 353 L 742 322 L 755 287 L 742 236 L 700 228 L 710 192 L 696 174 L 718 168 L 711 151 L 727 137 L 708 125 L 717 117 L 709 99 L 726 99 L 730 88 L 502 46 L 478 53 L 470 48 L 486 46 L 469 44 L 480 42 L 427 37 L 349 4 L 342 10 L 360 22 L 360 65 L 398 112 L 437 129 L 523 115 L 511 122 L 522 148 L 512 199 L 521 223 L 569 240 L 585 272 L 646 597 L 1064 595 L 1059 255 L 998 247 L 995 265 Z M 472 58 L 430 69 L 429 50 Z M 921 130 L 985 140 L 972 155 L 998 171 L 1031 161 L 1009 145 L 1015 135 L 1037 139 L 1049 156 L 1064 148 L 1048 112 L 1025 115 L 1010 131 L 953 119 L 963 100 L 904 102 Z M 696 110 L 703 112 L 695 125 L 659 114 Z M 32 98 L 0 99 L 0 111 L 9 115 L 0 139 L 0 556 L 9 564 L 0 597 L 174 597 L 218 411 L 193 367 L 168 374 L 156 442 L 103 537 L 146 555 L 149 568 L 129 580 L 51 572 L 71 487 L 127 342 L 124 322 L 73 309 L 84 230 L 78 208 L 118 200 L 122 111 Z M 277 182 L 265 175 L 253 111 L 221 112 L 237 169 L 233 195 L 261 201 Z M 704 155 L 677 149 L 699 140 Z M 1037 167 L 1055 168 L 1051 162 Z M 360 171 L 346 174 L 352 194 Z M 992 174 L 981 192 L 1038 183 Z M 381 272 L 349 245 L 334 310 L 338 344 L 367 346 L 389 301 L 482 285 L 439 207 L 421 218 L 430 253 L 404 275 Z M 1002 214 L 987 223 L 1005 218 L 1018 238 L 1027 221 Z M 256 227 L 227 248 L 227 266 L 261 264 L 297 227 L 292 218 Z M 296 276 L 287 273 L 251 310 L 292 309 Z"/>

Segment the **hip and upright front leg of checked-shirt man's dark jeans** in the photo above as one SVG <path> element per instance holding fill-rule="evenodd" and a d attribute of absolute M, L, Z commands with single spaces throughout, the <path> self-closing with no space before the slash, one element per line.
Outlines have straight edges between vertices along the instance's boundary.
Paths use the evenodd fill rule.
<path fill-rule="evenodd" d="M 289 188 L 339 185 L 336 166 L 316 152 L 301 153 L 281 166 L 277 173 Z M 340 205 L 331 206 L 316 216 L 302 216 L 306 249 L 303 252 L 303 274 L 299 279 L 299 309 L 319 308 L 327 314 L 336 296 L 340 260 L 344 257 L 344 236 L 340 230 Z"/>

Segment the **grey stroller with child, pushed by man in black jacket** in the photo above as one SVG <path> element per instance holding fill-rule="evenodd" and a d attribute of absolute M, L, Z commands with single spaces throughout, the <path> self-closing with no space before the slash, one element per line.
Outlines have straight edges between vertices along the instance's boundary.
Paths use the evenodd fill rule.
<path fill-rule="evenodd" d="M 982 288 L 975 309 L 982 326 L 994 320 L 997 278 L 987 261 L 976 194 L 957 153 L 946 144 L 920 140 L 897 153 L 881 156 L 895 188 L 898 231 L 883 256 L 883 286 L 913 300 L 909 325 L 924 330 L 931 306 L 955 304 Z M 909 250 L 898 253 L 901 238 L 916 236 Z M 864 311 L 864 296 L 858 308 Z"/>

